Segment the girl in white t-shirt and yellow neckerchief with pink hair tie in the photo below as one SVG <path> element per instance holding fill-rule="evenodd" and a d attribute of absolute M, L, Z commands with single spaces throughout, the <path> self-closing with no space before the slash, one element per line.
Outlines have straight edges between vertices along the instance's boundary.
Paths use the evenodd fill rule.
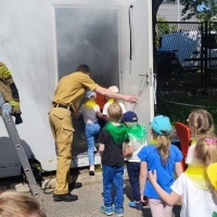
<path fill-rule="evenodd" d="M 189 165 L 171 184 L 170 193 L 159 186 L 156 170 L 149 171 L 149 179 L 167 204 L 173 206 L 182 200 L 180 217 L 215 217 L 217 216 L 217 168 L 212 174 L 208 174 L 208 170 L 217 163 L 217 138 L 201 137 L 195 144 L 194 158 L 194 165 Z M 212 177 L 212 182 L 208 177 Z"/>

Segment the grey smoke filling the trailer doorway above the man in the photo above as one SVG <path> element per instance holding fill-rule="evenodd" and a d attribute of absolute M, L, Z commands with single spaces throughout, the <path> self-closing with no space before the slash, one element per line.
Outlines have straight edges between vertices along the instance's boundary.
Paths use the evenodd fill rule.
<path fill-rule="evenodd" d="M 117 10 L 56 8 L 59 77 L 88 64 L 102 86 L 118 85 Z"/>

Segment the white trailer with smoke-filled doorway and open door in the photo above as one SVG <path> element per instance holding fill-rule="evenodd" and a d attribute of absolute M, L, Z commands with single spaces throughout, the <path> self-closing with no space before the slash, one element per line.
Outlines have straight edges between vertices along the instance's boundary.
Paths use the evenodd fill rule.
<path fill-rule="evenodd" d="M 137 95 L 133 110 L 149 127 L 154 115 L 151 0 L 0 0 L 0 61 L 21 95 L 17 131 L 27 156 L 55 170 L 48 112 L 59 79 L 81 63 L 105 87 Z M 80 123 L 74 123 L 72 167 L 88 165 Z M 100 156 L 95 154 L 95 164 Z M 0 118 L 0 178 L 21 174 L 21 162 Z"/>

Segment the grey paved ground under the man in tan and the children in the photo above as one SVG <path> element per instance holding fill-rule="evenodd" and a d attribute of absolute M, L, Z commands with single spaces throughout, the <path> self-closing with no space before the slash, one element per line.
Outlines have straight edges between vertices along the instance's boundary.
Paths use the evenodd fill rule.
<path fill-rule="evenodd" d="M 75 174 L 75 173 L 74 173 Z M 0 189 L 25 191 L 26 188 L 17 184 L 18 179 L 0 179 Z M 94 177 L 89 177 L 87 169 L 77 171 L 77 181 L 82 183 L 79 189 L 74 189 L 73 193 L 78 195 L 76 202 L 53 202 L 54 179 L 51 179 L 41 193 L 43 197 L 43 207 L 48 217 L 103 217 L 105 215 L 99 212 L 100 205 L 103 204 L 102 193 L 102 174 L 98 171 Z M 29 193 L 29 192 L 28 192 Z M 149 206 L 145 206 L 142 212 L 132 209 L 128 206 L 132 199 L 131 189 L 129 186 L 127 174 L 125 173 L 125 217 L 151 217 Z M 180 206 L 175 206 L 175 217 L 179 216 Z M 161 217 L 161 214 L 159 214 Z"/>

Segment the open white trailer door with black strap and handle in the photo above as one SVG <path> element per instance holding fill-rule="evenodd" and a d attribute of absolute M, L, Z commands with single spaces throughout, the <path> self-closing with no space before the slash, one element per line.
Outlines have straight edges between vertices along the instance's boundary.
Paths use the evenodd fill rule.
<path fill-rule="evenodd" d="M 137 104 L 126 106 L 149 128 L 154 115 L 152 1 L 137 0 L 124 7 L 118 27 L 122 92 L 138 97 Z"/>

